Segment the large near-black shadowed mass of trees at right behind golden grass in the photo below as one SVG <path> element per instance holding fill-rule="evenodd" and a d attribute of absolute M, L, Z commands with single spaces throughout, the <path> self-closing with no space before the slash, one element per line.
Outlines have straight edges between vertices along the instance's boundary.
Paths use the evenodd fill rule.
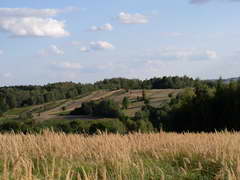
<path fill-rule="evenodd" d="M 186 89 L 161 108 L 150 108 L 149 120 L 155 128 L 175 132 L 240 130 L 240 83 L 214 88 L 201 85 Z"/>

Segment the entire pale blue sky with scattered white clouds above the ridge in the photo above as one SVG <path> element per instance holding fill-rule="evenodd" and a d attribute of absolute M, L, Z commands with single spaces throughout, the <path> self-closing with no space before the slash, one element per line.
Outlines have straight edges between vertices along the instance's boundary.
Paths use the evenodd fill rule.
<path fill-rule="evenodd" d="M 240 0 L 1 0 L 0 86 L 240 76 Z"/>

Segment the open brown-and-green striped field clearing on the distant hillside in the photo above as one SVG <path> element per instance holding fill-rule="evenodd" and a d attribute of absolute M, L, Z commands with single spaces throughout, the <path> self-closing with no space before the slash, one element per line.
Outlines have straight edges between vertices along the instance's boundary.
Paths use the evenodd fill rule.
<path fill-rule="evenodd" d="M 181 90 L 164 89 L 164 90 L 145 90 L 147 98 L 150 100 L 152 106 L 159 106 L 169 100 L 168 95 L 176 95 Z M 134 114 L 141 109 L 144 105 L 143 101 L 139 101 L 138 98 L 142 97 L 142 90 L 129 90 L 124 89 L 108 91 L 98 90 L 94 91 L 74 99 L 64 99 L 55 102 L 50 102 L 42 105 L 29 106 L 24 108 L 15 108 L 5 113 L 5 118 L 17 118 L 21 113 L 31 111 L 34 119 L 38 122 L 51 119 L 81 119 L 81 120 L 95 120 L 96 118 L 89 116 L 69 116 L 68 113 L 75 108 L 81 107 L 83 102 L 88 101 L 100 101 L 103 99 L 113 99 L 114 101 L 121 104 L 124 97 L 128 97 L 131 104 L 125 113 L 129 116 Z M 64 109 L 64 110 L 63 110 Z"/>

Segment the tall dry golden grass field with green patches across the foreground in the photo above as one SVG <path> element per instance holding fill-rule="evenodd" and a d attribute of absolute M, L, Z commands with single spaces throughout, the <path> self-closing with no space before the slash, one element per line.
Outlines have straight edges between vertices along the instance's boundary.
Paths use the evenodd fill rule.
<path fill-rule="evenodd" d="M 240 133 L 0 135 L 0 179 L 240 179 Z"/>

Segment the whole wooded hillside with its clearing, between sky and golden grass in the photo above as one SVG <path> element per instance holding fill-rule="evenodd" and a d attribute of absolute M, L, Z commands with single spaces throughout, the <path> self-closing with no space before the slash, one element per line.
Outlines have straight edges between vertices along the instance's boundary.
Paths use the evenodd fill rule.
<path fill-rule="evenodd" d="M 157 96 L 162 99 L 157 100 Z M 0 100 L 1 132 L 52 129 L 125 134 L 240 129 L 238 81 L 202 81 L 186 76 L 144 81 L 113 78 L 94 84 L 2 87 Z"/>

